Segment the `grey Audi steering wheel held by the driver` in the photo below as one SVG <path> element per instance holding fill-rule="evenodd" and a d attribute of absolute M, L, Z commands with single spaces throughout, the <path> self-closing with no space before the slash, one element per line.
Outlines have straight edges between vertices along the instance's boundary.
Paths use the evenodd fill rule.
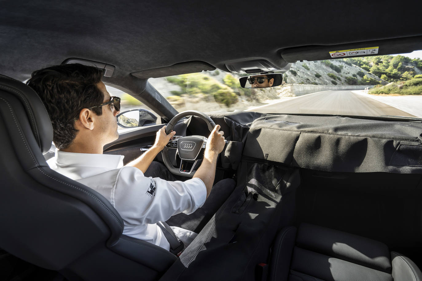
<path fill-rule="evenodd" d="M 208 125 L 210 132 L 214 129 L 214 121 L 205 113 L 196 110 L 188 110 L 174 116 L 165 128 L 165 133 L 170 134 L 171 130 L 181 118 L 194 115 L 204 120 Z M 202 159 L 201 149 L 205 148 L 207 143 L 205 136 L 173 136 L 168 144 L 162 150 L 162 159 L 167 169 L 175 175 L 184 177 L 193 177 L 197 162 Z M 180 167 L 175 168 L 168 157 L 168 150 L 176 149 L 181 159 Z"/>

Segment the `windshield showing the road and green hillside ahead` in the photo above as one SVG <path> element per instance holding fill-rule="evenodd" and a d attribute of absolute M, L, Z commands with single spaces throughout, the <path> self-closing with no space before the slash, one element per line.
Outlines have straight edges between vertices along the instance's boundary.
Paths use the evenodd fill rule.
<path fill-rule="evenodd" d="M 422 118 L 422 60 L 403 55 L 296 62 L 281 86 L 241 88 L 247 74 L 203 71 L 150 78 L 176 108 L 211 112 Z"/>

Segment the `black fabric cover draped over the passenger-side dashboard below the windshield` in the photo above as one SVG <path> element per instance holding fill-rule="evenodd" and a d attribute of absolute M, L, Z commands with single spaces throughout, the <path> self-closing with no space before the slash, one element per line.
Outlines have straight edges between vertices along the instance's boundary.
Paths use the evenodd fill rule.
<path fill-rule="evenodd" d="M 249 112 L 238 115 L 231 118 L 249 124 Z M 259 113 L 252 118 L 246 156 L 319 171 L 422 173 L 419 122 Z"/>

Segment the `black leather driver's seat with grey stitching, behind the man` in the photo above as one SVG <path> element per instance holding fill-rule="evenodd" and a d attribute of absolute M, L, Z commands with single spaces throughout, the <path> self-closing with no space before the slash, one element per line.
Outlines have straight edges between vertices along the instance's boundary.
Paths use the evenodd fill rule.
<path fill-rule="evenodd" d="M 51 170 L 53 131 L 39 96 L 0 76 L 0 248 L 69 280 L 157 280 L 178 258 L 122 235 L 102 195 Z"/>

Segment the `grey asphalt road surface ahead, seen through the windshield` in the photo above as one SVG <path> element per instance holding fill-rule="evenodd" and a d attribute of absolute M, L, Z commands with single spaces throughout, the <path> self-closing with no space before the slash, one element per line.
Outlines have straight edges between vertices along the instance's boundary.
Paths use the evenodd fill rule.
<path fill-rule="evenodd" d="M 349 90 L 323 91 L 249 109 L 262 113 L 411 116 L 407 112 Z"/>

